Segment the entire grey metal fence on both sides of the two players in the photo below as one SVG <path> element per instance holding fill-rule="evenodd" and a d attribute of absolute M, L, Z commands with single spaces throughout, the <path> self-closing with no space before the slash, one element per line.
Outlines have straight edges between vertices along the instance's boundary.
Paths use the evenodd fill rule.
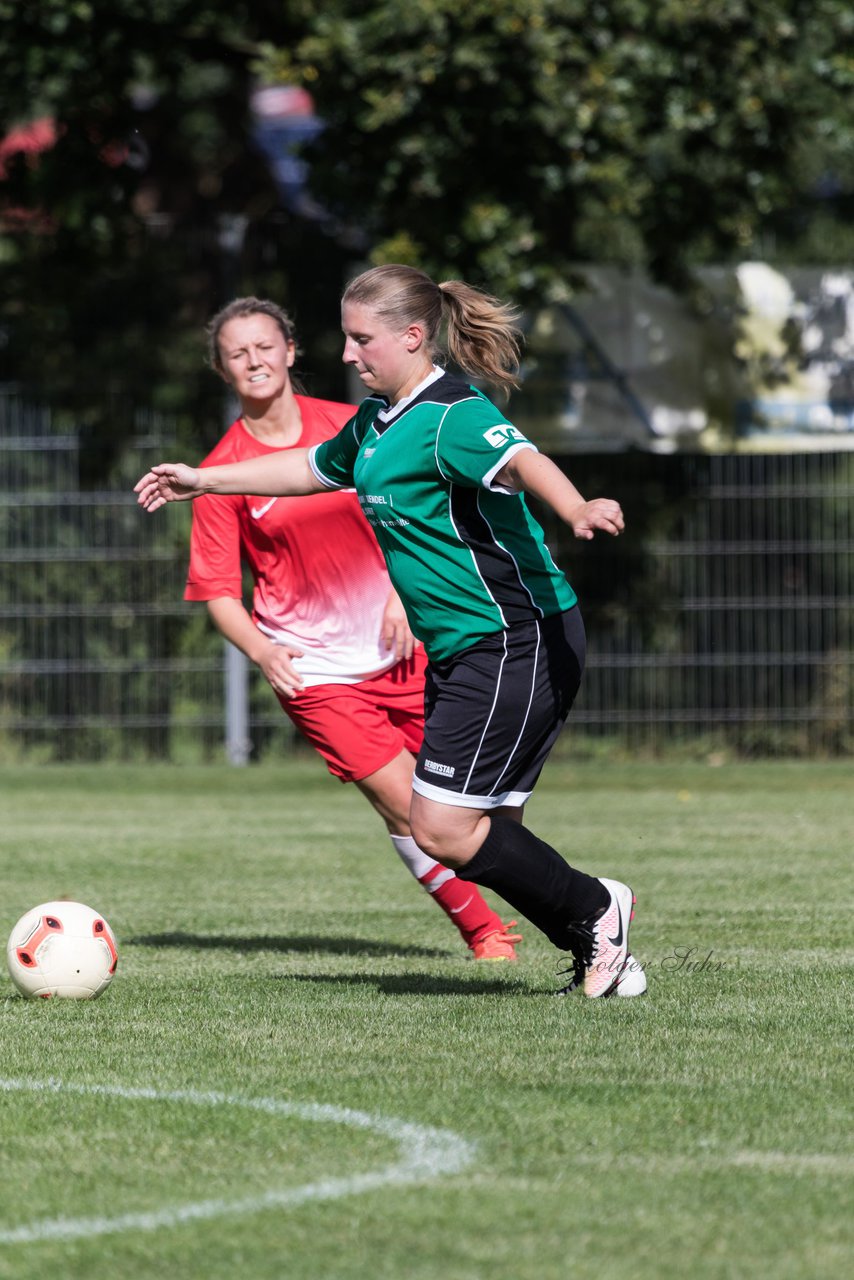
<path fill-rule="evenodd" d="M 225 649 L 182 600 L 189 512 L 131 493 L 170 424 L 133 421 L 87 492 L 77 435 L 0 394 L 0 759 L 224 755 Z M 547 529 L 589 636 L 563 749 L 849 754 L 854 454 L 566 461 L 583 492 L 607 476 L 630 531 Z M 257 756 L 296 746 L 255 675 L 248 736 Z"/>

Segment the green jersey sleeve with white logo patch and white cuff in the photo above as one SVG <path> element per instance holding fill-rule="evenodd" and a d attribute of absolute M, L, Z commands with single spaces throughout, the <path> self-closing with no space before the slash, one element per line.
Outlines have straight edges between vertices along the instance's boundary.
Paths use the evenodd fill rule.
<path fill-rule="evenodd" d="M 494 477 L 520 449 L 536 449 L 488 399 L 455 404 L 437 434 L 435 460 L 446 480 L 512 493 Z"/>

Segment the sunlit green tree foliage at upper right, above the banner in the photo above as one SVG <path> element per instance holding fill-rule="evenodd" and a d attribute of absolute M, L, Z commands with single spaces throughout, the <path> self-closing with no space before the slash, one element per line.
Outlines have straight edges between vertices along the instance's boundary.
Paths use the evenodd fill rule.
<path fill-rule="evenodd" d="M 795 252 L 822 178 L 850 210 L 853 33 L 845 0 L 338 0 L 269 68 L 376 257 L 560 294 L 584 261 Z"/>

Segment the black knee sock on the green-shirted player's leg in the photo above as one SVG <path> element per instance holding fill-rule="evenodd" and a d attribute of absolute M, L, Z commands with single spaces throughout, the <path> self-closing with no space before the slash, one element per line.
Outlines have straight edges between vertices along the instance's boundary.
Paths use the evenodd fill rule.
<path fill-rule="evenodd" d="M 611 896 L 512 818 L 490 819 L 489 835 L 457 877 L 501 893 L 536 925 L 556 947 L 568 946 L 567 925 L 595 916 Z"/>

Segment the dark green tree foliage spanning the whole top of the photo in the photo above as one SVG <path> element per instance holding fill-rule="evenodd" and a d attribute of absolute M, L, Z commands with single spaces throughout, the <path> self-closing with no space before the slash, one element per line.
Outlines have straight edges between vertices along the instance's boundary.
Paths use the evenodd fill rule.
<path fill-rule="evenodd" d="M 3 160 L 0 379 L 213 404 L 200 328 L 234 289 L 337 367 L 356 243 L 522 303 L 585 262 L 848 262 L 853 32 L 846 0 L 0 0 L 4 132 L 56 127 Z M 325 221 L 282 206 L 259 77 L 315 100 Z"/>

